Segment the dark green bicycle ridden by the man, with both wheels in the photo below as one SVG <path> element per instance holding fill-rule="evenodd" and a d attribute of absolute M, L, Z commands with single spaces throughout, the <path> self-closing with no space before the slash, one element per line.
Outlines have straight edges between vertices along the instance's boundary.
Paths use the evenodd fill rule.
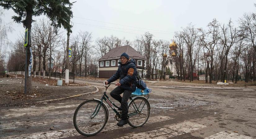
<path fill-rule="evenodd" d="M 106 91 L 111 84 L 105 85 Z M 105 127 L 109 118 L 109 109 L 103 100 L 113 109 L 116 113 L 115 119 L 121 120 L 121 111 L 115 109 L 119 108 L 113 103 L 106 95 L 106 91 L 99 99 L 90 99 L 81 103 L 75 110 L 73 122 L 74 127 L 83 136 L 94 136 Z M 147 96 L 147 98 L 146 98 Z M 128 102 L 128 124 L 134 128 L 143 126 L 150 115 L 150 103 L 148 101 L 149 95 L 131 95 Z"/>

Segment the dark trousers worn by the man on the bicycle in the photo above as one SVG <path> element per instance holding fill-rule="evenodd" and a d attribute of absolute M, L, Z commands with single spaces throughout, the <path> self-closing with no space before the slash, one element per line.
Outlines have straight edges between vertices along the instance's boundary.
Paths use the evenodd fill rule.
<path fill-rule="evenodd" d="M 120 96 L 120 94 L 123 94 L 123 97 Z M 122 116 L 121 119 L 127 119 L 128 116 L 128 99 L 130 98 L 132 94 L 132 91 L 124 90 L 120 86 L 117 86 L 114 90 L 110 92 L 110 95 L 115 100 L 119 101 L 121 103 L 122 107 Z"/>

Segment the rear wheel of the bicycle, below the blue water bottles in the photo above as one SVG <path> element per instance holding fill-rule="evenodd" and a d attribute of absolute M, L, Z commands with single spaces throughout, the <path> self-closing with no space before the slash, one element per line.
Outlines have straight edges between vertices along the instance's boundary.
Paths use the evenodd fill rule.
<path fill-rule="evenodd" d="M 149 114 L 150 104 L 147 99 L 137 97 L 128 106 L 128 124 L 134 128 L 141 127 L 147 122 Z"/>

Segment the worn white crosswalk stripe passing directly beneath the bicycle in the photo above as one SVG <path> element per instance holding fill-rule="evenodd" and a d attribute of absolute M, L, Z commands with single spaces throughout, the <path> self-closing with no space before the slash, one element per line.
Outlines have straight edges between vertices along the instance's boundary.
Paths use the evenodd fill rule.
<path fill-rule="evenodd" d="M 170 120 L 173 119 L 169 116 L 154 116 L 154 117 L 149 117 L 149 120 L 147 121 L 146 124 L 151 124 L 151 123 L 156 123 L 156 122 L 161 122 L 165 120 Z M 53 121 L 54 122 L 54 121 Z M 108 123 L 106 124 L 105 128 L 103 131 L 108 131 L 108 130 L 113 130 L 113 129 L 118 129 L 118 128 L 126 128 L 130 127 L 129 125 L 125 125 L 124 127 L 118 127 L 115 123 Z M 71 129 L 64 129 L 64 130 L 59 130 L 59 131 L 49 131 L 49 132 L 40 132 L 40 133 L 31 133 L 31 134 L 22 134 L 22 135 L 17 135 L 17 136 L 8 136 L 4 137 L 3 139 L 13 139 L 13 138 L 26 138 L 26 139 L 41 139 L 41 138 L 64 138 L 64 137 L 70 137 L 70 136 L 75 136 L 75 135 L 80 135 L 75 128 Z"/>

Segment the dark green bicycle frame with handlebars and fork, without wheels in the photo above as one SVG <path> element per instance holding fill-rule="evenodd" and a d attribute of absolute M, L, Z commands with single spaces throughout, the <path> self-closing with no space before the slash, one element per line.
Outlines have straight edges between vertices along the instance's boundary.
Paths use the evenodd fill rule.
<path fill-rule="evenodd" d="M 115 107 L 116 107 L 116 108 L 120 108 L 120 107 L 116 106 L 115 103 L 113 103 L 113 102 L 111 101 L 111 99 L 106 95 L 107 89 L 108 89 L 108 87 L 109 87 L 111 84 L 116 84 L 116 83 L 115 83 L 115 82 L 111 82 L 108 86 L 106 86 L 106 85 L 105 85 L 105 82 L 104 82 L 104 86 L 106 87 L 106 91 L 104 91 L 104 94 L 103 94 L 102 97 L 101 97 L 101 100 L 100 100 L 100 101 L 101 101 L 101 104 L 97 104 L 97 106 L 96 106 L 96 108 L 95 108 L 95 111 L 93 112 L 91 118 L 95 117 L 95 116 L 98 114 L 98 112 L 99 112 L 99 110 L 100 110 L 100 107 L 101 107 L 101 105 L 102 105 L 102 103 L 103 103 L 103 99 L 104 99 L 104 100 L 106 101 L 106 103 L 112 108 L 112 110 L 113 110 L 119 117 L 121 117 L 121 114 L 120 114 L 119 112 L 117 112 L 117 110 L 115 109 Z M 135 95 L 135 96 L 136 96 L 136 95 Z M 137 97 L 138 97 L 138 96 L 137 96 Z M 131 102 L 130 102 L 130 103 L 132 103 L 132 102 L 133 102 L 132 97 L 130 97 L 130 99 L 131 99 Z M 141 102 L 141 103 L 142 103 L 142 102 Z M 146 104 L 146 103 L 145 103 L 145 104 Z M 143 105 L 142 109 L 144 108 L 145 104 Z M 114 107 L 113 107 L 113 106 L 114 106 Z M 133 106 L 133 108 L 136 110 L 136 112 L 133 112 L 133 113 L 128 114 L 128 117 L 134 116 L 134 115 L 136 115 L 136 114 L 138 114 L 138 113 L 140 113 L 140 112 L 142 111 L 142 109 L 141 109 L 141 111 L 139 111 L 139 107 L 141 106 L 141 104 L 139 105 L 139 107 L 137 107 L 136 104 L 133 102 L 132 106 Z M 135 106 L 135 107 L 134 107 L 134 106 Z"/>

